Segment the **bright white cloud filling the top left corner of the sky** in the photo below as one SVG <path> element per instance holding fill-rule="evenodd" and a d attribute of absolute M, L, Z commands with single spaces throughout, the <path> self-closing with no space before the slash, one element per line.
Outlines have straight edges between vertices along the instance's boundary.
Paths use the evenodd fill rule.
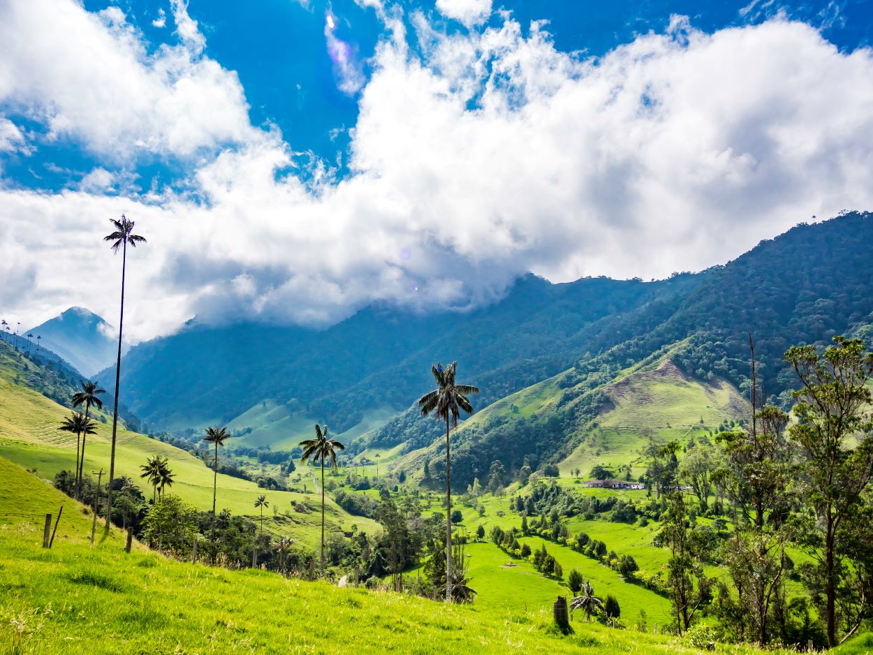
<path fill-rule="evenodd" d="M 203 57 L 203 36 L 173 3 L 182 45 L 149 54 L 123 12 L 72 0 L 0 3 L 0 103 L 120 161 L 187 157 L 253 130 L 236 73 Z"/>

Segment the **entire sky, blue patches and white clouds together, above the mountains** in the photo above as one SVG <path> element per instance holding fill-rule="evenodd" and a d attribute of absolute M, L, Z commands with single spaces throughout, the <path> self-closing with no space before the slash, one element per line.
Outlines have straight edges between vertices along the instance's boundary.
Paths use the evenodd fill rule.
<path fill-rule="evenodd" d="M 722 263 L 873 206 L 871 31 L 860 0 L 11 0 L 0 310 L 108 314 L 122 211 L 135 338 Z"/>

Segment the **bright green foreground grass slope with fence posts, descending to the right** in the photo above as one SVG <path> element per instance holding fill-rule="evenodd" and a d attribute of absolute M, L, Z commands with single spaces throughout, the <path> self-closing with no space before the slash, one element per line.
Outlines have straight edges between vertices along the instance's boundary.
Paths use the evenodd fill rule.
<path fill-rule="evenodd" d="M 142 547 L 127 555 L 112 536 L 92 549 L 85 545 L 90 521 L 76 503 L 2 459 L 0 479 L 0 511 L 43 514 L 60 502 L 72 510 L 52 550 L 40 548 L 40 521 L 35 527 L 29 518 L 0 516 L 0 652 L 695 652 L 677 639 L 579 617 L 574 634 L 562 637 L 548 610 L 526 610 L 520 596 L 512 608 L 446 606 L 265 571 L 192 566 Z M 485 573 L 478 580 L 492 583 Z M 551 598 L 544 590 L 538 607 Z"/>

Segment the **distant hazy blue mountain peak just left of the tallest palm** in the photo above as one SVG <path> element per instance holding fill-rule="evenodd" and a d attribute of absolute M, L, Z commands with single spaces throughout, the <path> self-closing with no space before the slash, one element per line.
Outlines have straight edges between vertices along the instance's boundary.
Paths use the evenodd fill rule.
<path fill-rule="evenodd" d="M 70 307 L 27 332 L 42 337 L 42 348 L 63 357 L 83 376 L 105 369 L 117 354 L 115 328 L 85 307 Z"/>

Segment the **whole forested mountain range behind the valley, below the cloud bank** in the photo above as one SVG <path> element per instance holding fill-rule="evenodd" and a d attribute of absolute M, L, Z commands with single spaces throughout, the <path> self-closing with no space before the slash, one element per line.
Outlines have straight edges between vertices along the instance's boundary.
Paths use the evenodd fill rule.
<path fill-rule="evenodd" d="M 327 423 L 353 455 L 394 449 L 410 473 L 433 461 L 438 475 L 441 428 L 414 403 L 433 384 L 431 364 L 457 360 L 459 381 L 482 391 L 458 431 L 459 484 L 494 461 L 507 476 L 526 461 L 588 465 L 603 451 L 579 459 L 580 449 L 595 433 L 608 441 L 603 417 L 621 409 L 622 389 L 662 404 L 670 390 L 687 391 L 704 403 L 689 410 L 695 423 L 717 424 L 744 411 L 749 334 L 766 396 L 782 404 L 794 384 L 782 361 L 788 347 L 870 336 L 871 219 L 852 212 L 798 224 L 725 265 L 658 281 L 527 275 L 502 300 L 465 313 L 377 305 L 324 330 L 190 321 L 130 349 L 121 396 L 151 431 L 229 424 L 237 443 L 290 449 L 314 422 Z M 113 374 L 98 377 L 107 386 Z M 627 393 L 625 407 L 636 402 Z M 675 431 L 668 415 L 662 428 Z"/>

